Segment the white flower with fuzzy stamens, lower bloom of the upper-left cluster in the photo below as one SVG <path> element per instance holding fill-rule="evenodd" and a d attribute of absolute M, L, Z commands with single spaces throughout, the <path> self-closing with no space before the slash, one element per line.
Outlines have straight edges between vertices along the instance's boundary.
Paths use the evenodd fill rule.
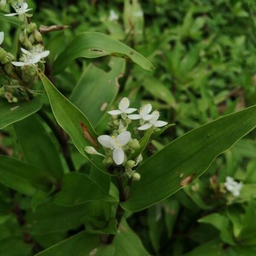
<path fill-rule="evenodd" d="M 12 61 L 12 64 L 18 67 L 35 65 L 42 58 L 47 57 L 50 53 L 49 51 L 45 51 L 41 44 L 32 46 L 29 51 L 21 48 L 21 51 L 23 54 L 20 57 L 20 61 Z"/>

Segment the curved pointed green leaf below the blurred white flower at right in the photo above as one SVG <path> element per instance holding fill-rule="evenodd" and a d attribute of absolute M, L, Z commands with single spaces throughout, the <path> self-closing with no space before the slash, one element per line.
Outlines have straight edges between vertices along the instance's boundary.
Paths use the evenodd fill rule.
<path fill-rule="evenodd" d="M 232 227 L 229 219 L 219 213 L 212 213 L 198 220 L 200 223 L 212 224 L 220 230 L 220 238 L 228 244 L 235 244 L 232 236 Z"/>

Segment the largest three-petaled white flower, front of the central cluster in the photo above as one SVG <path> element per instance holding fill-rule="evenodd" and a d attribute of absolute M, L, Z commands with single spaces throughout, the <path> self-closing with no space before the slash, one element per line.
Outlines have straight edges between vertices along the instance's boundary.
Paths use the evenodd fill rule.
<path fill-rule="evenodd" d="M 126 145 L 130 139 L 131 133 L 129 131 L 124 131 L 116 137 L 108 135 L 98 137 L 98 141 L 102 146 L 113 150 L 113 160 L 117 165 L 120 165 L 124 161 L 125 153 L 122 147 Z"/>

